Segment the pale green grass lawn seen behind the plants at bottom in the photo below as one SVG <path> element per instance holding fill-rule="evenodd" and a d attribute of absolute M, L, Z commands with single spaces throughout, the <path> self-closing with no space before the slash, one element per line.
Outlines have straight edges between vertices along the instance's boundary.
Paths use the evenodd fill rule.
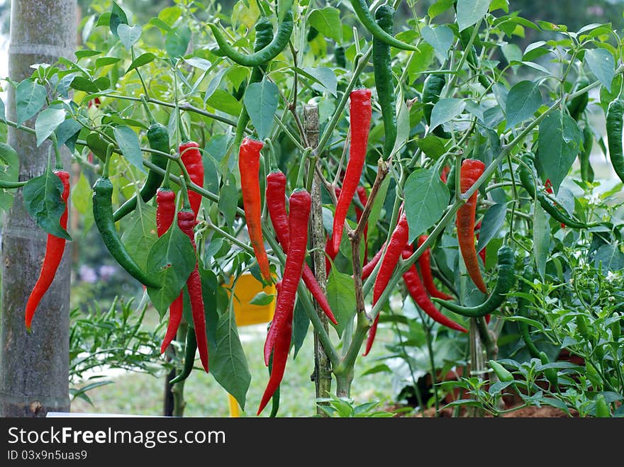
<path fill-rule="evenodd" d="M 147 323 L 144 323 L 147 325 Z M 267 367 L 262 359 L 262 346 L 266 325 L 241 327 L 239 329 L 243 349 L 252 376 L 247 404 L 241 410 L 241 417 L 255 417 L 260 398 L 269 378 Z M 330 330 L 335 337 L 335 333 Z M 389 327 L 379 326 L 375 345 L 366 357 L 360 357 L 355 367 L 352 384 L 352 398 L 365 403 L 372 400 L 392 402 L 391 374 L 375 373 L 362 376 L 368 368 L 377 364 L 378 359 L 387 355 L 384 342 L 391 342 L 393 334 Z M 199 364 L 199 361 L 196 362 Z M 293 360 L 292 352 L 284 373 L 281 386 L 279 417 L 310 417 L 316 414 L 314 384 L 310 380 L 313 371 L 313 335 L 311 328 L 303 342 L 303 347 Z M 114 413 L 125 415 L 162 415 L 162 401 L 165 388 L 165 373 L 160 378 L 143 373 L 123 373 L 107 378 L 113 384 L 89 391 L 93 406 L 84 400 L 72 401 L 72 412 Z M 335 390 L 335 381 L 332 383 Z M 228 417 L 228 395 L 210 374 L 195 369 L 184 385 L 184 398 L 187 417 Z M 270 413 L 269 406 L 262 412 L 263 417 Z"/>

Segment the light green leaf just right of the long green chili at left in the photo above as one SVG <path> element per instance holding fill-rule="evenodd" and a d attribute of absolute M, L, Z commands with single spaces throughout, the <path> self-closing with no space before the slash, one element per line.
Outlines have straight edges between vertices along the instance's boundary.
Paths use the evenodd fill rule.
<path fill-rule="evenodd" d="M 156 242 L 156 208 L 138 197 L 137 207 L 124 221 L 121 242 L 141 269 L 147 265 L 150 248 Z"/>

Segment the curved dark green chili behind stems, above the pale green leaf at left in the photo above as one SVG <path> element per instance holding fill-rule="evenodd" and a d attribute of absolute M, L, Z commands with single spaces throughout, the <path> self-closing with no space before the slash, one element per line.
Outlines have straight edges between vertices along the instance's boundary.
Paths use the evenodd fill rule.
<path fill-rule="evenodd" d="M 152 148 L 152 150 L 157 150 L 169 154 L 169 133 L 167 132 L 167 127 L 155 121 L 151 113 L 149 113 L 149 116 L 150 120 L 152 120 L 150 128 L 147 129 L 147 141 L 150 143 L 150 147 Z M 155 164 L 157 167 L 160 167 L 162 170 L 167 169 L 167 157 L 165 156 L 152 153 L 152 163 Z M 139 192 L 141 198 L 143 199 L 143 201 L 145 201 L 145 203 L 147 203 L 147 201 L 150 201 L 150 199 L 155 196 L 157 189 L 162 184 L 163 178 L 164 176 L 157 173 L 156 171 L 150 170 L 149 172 L 147 172 L 147 179 L 145 180 L 143 188 L 141 188 Z M 136 195 L 126 201 L 126 203 L 123 203 L 113 214 L 113 219 L 115 220 L 115 222 L 135 210 L 136 203 Z"/>

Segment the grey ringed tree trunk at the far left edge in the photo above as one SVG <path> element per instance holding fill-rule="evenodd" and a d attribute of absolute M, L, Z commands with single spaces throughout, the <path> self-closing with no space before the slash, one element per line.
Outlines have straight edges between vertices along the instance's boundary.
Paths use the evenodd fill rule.
<path fill-rule="evenodd" d="M 30 64 L 73 59 L 76 0 L 13 0 L 9 76 L 21 81 Z M 7 117 L 16 120 L 15 91 L 9 86 Z M 34 118 L 26 122 L 33 128 Z M 37 147 L 35 136 L 9 128 L 9 145 L 20 154 L 20 180 L 43 173 L 50 142 Z M 69 167 L 67 167 L 69 168 Z M 47 235 L 26 212 L 16 193 L 2 232 L 0 324 L 0 416 L 45 417 L 69 411 L 69 258 L 71 245 L 26 333 L 26 301 L 39 276 Z"/>

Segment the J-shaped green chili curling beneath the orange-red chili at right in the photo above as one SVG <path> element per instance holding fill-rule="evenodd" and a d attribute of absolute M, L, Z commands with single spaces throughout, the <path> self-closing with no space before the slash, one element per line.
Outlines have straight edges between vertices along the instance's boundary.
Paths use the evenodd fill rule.
<path fill-rule="evenodd" d="M 481 305 L 466 307 L 447 302 L 446 300 L 440 300 L 440 298 L 432 298 L 431 300 L 440 303 L 440 305 L 452 312 L 467 317 L 480 317 L 494 313 L 496 308 L 505 302 L 507 293 L 511 290 L 513 284 L 516 283 L 516 275 L 513 273 L 515 262 L 516 257 L 510 247 L 503 245 L 498 249 L 498 278 L 496 279 L 496 286 L 494 286 L 494 291 L 491 295 Z"/>

